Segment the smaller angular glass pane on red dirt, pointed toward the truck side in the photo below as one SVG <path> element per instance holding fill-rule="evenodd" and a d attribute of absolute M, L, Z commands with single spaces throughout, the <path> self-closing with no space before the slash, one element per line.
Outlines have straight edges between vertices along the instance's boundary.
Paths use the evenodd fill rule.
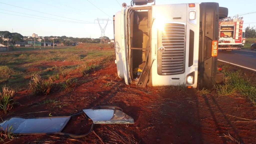
<path fill-rule="evenodd" d="M 134 124 L 132 117 L 118 109 L 84 109 L 94 124 Z"/>

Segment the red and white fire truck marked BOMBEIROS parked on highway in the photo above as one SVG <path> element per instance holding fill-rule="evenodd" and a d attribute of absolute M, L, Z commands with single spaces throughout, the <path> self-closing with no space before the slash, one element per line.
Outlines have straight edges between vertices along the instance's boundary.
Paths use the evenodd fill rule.
<path fill-rule="evenodd" d="M 226 51 L 243 47 L 243 17 L 227 17 L 219 21 L 219 48 Z"/>

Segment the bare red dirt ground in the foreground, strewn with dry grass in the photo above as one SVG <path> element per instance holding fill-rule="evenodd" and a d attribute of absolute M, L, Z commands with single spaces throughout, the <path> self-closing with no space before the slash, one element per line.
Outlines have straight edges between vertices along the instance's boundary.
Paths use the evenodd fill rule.
<path fill-rule="evenodd" d="M 70 77 L 79 76 L 78 73 Z M 79 84 L 73 91 L 55 90 L 47 96 L 29 97 L 28 91 L 19 92 L 15 106 L 8 115 L 0 112 L 3 119 L 10 116 L 41 117 L 68 116 L 84 108 L 113 105 L 124 109 L 134 118 L 130 125 L 95 125 L 89 136 L 74 139 L 55 136 L 19 136 L 8 143 L 255 143 L 256 122 L 239 122 L 238 116 L 256 119 L 256 107 L 241 96 L 218 96 L 215 91 L 199 96 L 195 89 L 186 91 L 175 87 L 138 88 L 125 85 L 116 76 L 116 66 L 111 63 L 104 69 L 79 76 Z M 110 83 L 106 87 L 104 84 Z M 66 106 L 43 105 L 47 99 L 55 99 Z M 38 104 L 37 102 L 41 103 Z M 47 112 L 42 112 L 47 111 Z M 30 112 L 37 112 L 27 114 Z M 89 130 L 90 123 L 83 116 L 72 119 L 64 132 L 82 134 Z M 230 138 L 221 137 L 230 134 Z M 96 136 L 97 135 L 97 136 Z M 6 140 L 8 141 L 8 140 Z"/>

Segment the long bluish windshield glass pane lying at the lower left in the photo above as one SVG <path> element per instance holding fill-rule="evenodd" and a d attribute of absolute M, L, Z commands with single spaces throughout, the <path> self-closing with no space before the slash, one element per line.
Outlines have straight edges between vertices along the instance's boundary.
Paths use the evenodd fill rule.
<path fill-rule="evenodd" d="M 67 117 L 22 118 L 12 117 L 0 123 L 3 130 L 16 134 L 60 132 L 69 121 Z M 10 128 L 11 127 L 11 128 Z"/>

